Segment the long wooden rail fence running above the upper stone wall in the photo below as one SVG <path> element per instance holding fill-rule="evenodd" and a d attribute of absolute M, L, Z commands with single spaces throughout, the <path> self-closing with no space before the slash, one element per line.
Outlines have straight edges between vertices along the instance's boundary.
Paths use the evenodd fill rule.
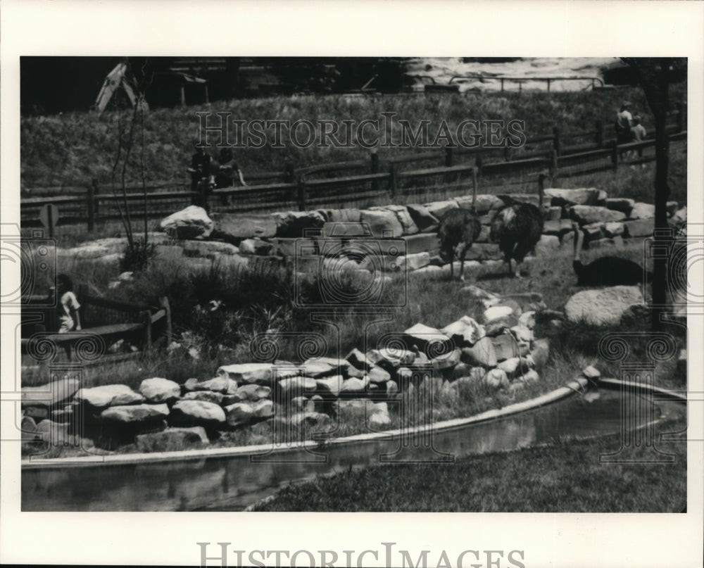
<path fill-rule="evenodd" d="M 672 117 L 674 123 L 670 121 L 668 125 L 670 140 L 686 144 L 684 108 L 680 107 Z M 94 181 L 83 195 L 23 198 L 20 220 L 23 227 L 39 226 L 39 211 L 46 203 L 58 206 L 59 225 L 83 226 L 89 232 L 103 223 L 119 221 L 125 200 L 133 222 L 142 221 L 145 208 L 147 217 L 157 220 L 194 201 L 208 203 L 214 212 L 232 213 L 423 203 L 463 194 L 472 187 L 486 193 L 505 193 L 512 185 L 532 187 L 536 175 L 541 173 L 554 180 L 617 170 L 625 152 L 638 154 L 629 165 L 654 160 L 654 146 L 653 138 L 617 145 L 615 139 L 605 138 L 603 123 L 597 121 L 594 130 L 584 132 L 561 132 L 555 127 L 551 134 L 528 138 L 520 149 L 447 147 L 392 158 L 372 152 L 367 160 L 263 172 L 248 175 L 250 185 L 246 187 L 215 189 L 209 196 L 165 190 L 182 185 L 183 181 L 151 182 L 145 203 L 141 187 L 128 188 L 125 197 L 121 191 L 104 193 Z M 331 174 L 336 176 L 328 177 Z"/>

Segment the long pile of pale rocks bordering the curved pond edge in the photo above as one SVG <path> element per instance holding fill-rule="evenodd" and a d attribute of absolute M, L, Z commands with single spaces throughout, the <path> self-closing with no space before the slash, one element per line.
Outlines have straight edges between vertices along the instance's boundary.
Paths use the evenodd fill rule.
<path fill-rule="evenodd" d="M 476 286 L 464 292 L 484 303 L 481 322 L 465 315 L 442 329 L 415 324 L 394 343 L 366 353 L 353 349 L 345 358 L 223 365 L 213 379 L 177 384 L 153 377 L 137 390 L 125 384 L 79 389 L 72 379 L 28 387 L 23 413 L 33 422 L 27 436 L 73 436 L 74 442 L 79 436 L 103 448 L 136 443 L 150 451 L 207 443 L 263 423 L 326 429 L 340 410 L 360 412 L 379 429 L 391 424 L 389 403 L 424 384 L 456 394 L 465 383 L 515 390 L 538 380 L 536 360 L 545 360 L 547 348 L 534 341 L 535 312 L 544 307 L 539 294 L 501 297 Z"/>

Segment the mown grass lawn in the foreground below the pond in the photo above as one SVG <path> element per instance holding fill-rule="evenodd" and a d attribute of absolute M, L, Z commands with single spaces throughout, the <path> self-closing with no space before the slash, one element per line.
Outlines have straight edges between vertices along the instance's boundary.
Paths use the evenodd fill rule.
<path fill-rule="evenodd" d="M 684 420 L 658 431 L 679 431 Z M 660 444 L 674 464 L 606 464 L 620 436 L 555 441 L 444 465 L 368 467 L 283 488 L 258 511 L 681 512 L 687 502 L 687 446 Z M 643 458 L 634 448 L 629 457 Z M 398 483 L 403 479 L 403 483 Z"/>

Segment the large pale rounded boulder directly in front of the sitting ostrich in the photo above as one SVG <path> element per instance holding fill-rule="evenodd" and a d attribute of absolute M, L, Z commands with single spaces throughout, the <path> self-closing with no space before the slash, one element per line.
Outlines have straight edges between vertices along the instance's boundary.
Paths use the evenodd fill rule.
<path fill-rule="evenodd" d="M 577 292 L 565 304 L 565 314 L 570 322 L 616 324 L 631 305 L 642 303 L 639 286 L 611 286 Z"/>

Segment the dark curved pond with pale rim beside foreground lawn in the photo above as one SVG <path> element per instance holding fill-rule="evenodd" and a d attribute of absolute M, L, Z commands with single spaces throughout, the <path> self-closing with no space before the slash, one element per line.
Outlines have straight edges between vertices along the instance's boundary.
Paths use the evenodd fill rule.
<path fill-rule="evenodd" d="M 243 510 L 289 483 L 349 468 L 394 462 L 452 467 L 469 455 L 516 450 L 556 438 L 614 434 L 627 425 L 629 443 L 647 443 L 648 424 L 681 417 L 686 405 L 653 403 L 619 389 L 588 391 L 535 410 L 433 431 L 311 444 L 257 455 L 212 455 L 63 467 L 23 467 L 23 511 Z M 156 457 L 156 456 L 155 456 Z"/>

